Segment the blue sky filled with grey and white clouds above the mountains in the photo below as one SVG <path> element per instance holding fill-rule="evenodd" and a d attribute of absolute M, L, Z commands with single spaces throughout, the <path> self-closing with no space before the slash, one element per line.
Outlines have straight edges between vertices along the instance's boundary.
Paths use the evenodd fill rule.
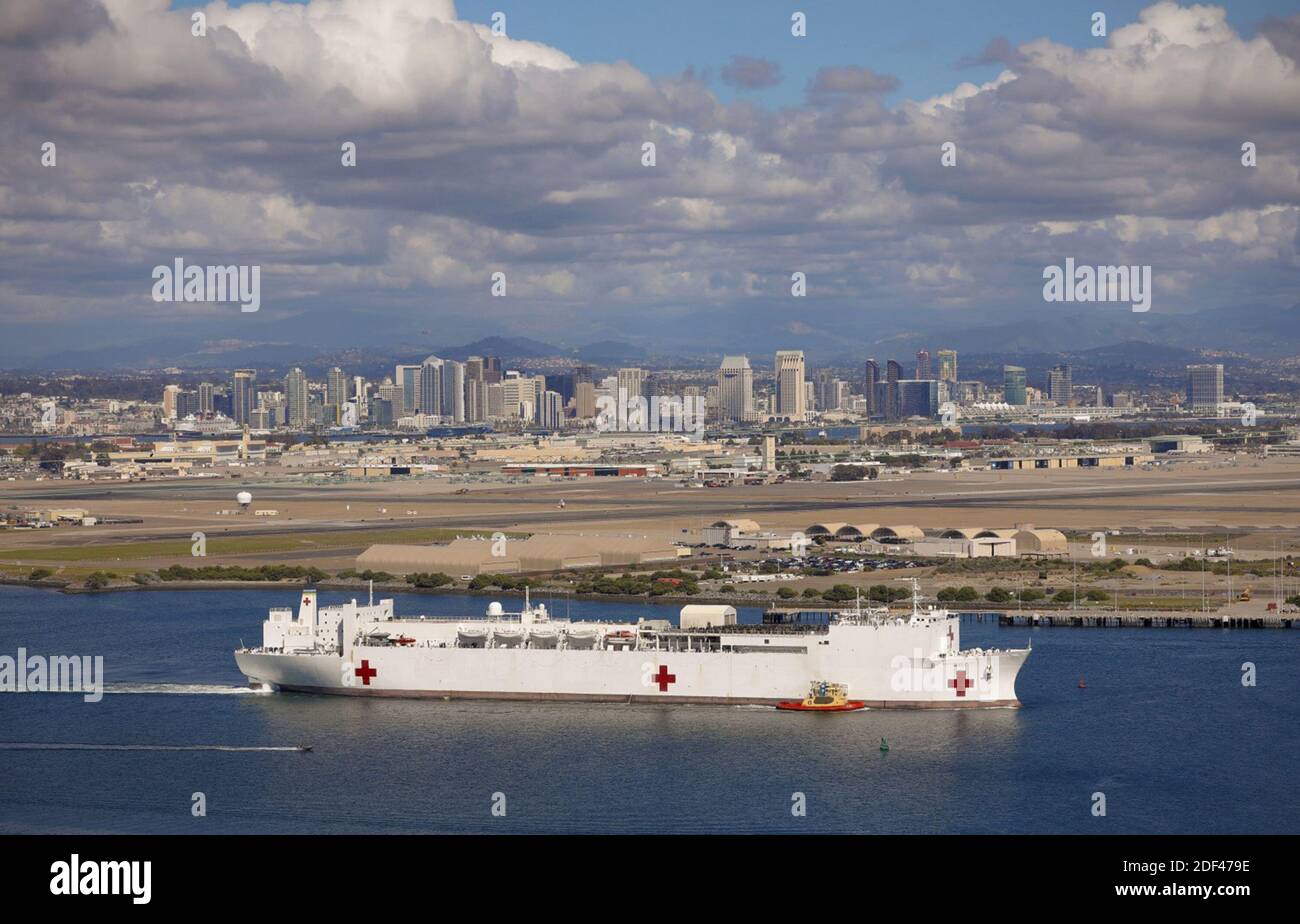
<path fill-rule="evenodd" d="M 815 351 L 1065 316 L 1066 257 L 1150 265 L 1152 316 L 1296 305 L 1294 5 L 1110 3 L 1096 36 L 1098 5 L 4 0 L 0 365 Z M 177 257 L 261 266 L 260 311 L 153 302 Z"/>

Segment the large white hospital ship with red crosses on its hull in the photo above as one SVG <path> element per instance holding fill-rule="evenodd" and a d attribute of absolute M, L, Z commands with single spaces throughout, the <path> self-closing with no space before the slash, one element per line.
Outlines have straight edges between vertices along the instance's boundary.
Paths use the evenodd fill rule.
<path fill-rule="evenodd" d="M 1030 650 L 959 637 L 959 617 L 915 593 L 904 613 L 857 604 L 740 625 L 731 607 L 685 607 L 673 625 L 555 619 L 526 598 L 516 613 L 398 617 L 391 599 L 318 607 L 307 590 L 235 660 L 255 685 L 352 695 L 775 706 L 824 681 L 868 707 L 1019 706 Z"/>

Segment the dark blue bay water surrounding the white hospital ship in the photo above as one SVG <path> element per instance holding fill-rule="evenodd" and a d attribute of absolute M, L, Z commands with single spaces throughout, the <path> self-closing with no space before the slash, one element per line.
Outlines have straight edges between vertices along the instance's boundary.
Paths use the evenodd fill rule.
<path fill-rule="evenodd" d="M 0 741 L 315 746 L 0 747 L 0 832 L 1300 830 L 1296 632 L 967 625 L 967 646 L 1032 634 L 1018 711 L 806 716 L 239 693 L 231 648 L 296 597 L 0 587 L 0 654 L 101 654 L 117 690 L 99 703 L 0 694 Z M 398 611 L 485 603 L 411 595 Z M 664 615 L 573 606 L 575 616 L 611 611 Z M 1248 660 L 1253 689 L 1240 684 Z M 1089 811 L 1098 790 L 1105 819 Z M 190 812 L 195 791 L 207 817 Z M 506 817 L 489 811 L 498 791 Z M 796 791 L 806 817 L 790 814 Z"/>

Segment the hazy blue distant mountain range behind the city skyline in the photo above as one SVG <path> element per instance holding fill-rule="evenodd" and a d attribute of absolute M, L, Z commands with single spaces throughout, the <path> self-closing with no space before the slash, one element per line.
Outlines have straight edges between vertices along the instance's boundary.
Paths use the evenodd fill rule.
<path fill-rule="evenodd" d="M 1082 309 L 1071 305 L 1037 307 L 1011 320 L 980 322 L 974 312 L 915 309 L 872 316 L 870 333 L 841 330 L 838 325 L 818 326 L 814 320 L 800 322 L 797 333 L 759 322 L 737 325 L 734 318 L 701 314 L 698 330 L 681 342 L 680 329 L 650 325 L 628 342 L 601 339 L 585 346 L 558 346 L 520 335 L 491 335 L 469 343 L 429 343 L 419 350 L 411 343 L 382 342 L 356 346 L 348 329 L 311 329 L 317 344 L 308 346 L 296 327 L 268 325 L 264 339 L 211 339 L 170 334 L 147 340 L 112 342 L 86 350 L 53 350 L 44 355 L 25 352 L 21 360 L 5 365 L 14 370 L 112 372 L 138 369 L 230 370 L 250 366 L 282 373 L 298 365 L 318 376 L 338 365 L 355 374 L 391 374 L 396 363 L 419 363 L 425 356 L 464 360 L 468 356 L 500 356 L 504 361 L 528 366 L 529 360 L 568 359 L 599 368 L 618 365 L 708 366 L 724 352 L 748 353 L 758 368 L 770 368 L 779 348 L 803 350 L 810 366 L 854 365 L 867 356 L 898 359 L 909 365 L 918 350 L 942 348 L 965 355 L 989 355 L 1001 361 L 1031 368 L 1070 355 L 1092 357 L 1109 366 L 1147 366 L 1193 361 L 1205 351 L 1240 353 L 1257 359 L 1278 359 L 1300 353 L 1300 307 L 1277 309 L 1252 305 L 1221 308 L 1192 314 L 1131 313 L 1113 307 Z M 864 322 L 863 322 L 864 324 Z M 292 331 L 292 337 L 287 335 Z M 374 330 L 368 330 L 378 337 Z M 350 335 L 351 334 L 351 335 Z M 432 339 L 432 338 L 430 338 Z"/>

